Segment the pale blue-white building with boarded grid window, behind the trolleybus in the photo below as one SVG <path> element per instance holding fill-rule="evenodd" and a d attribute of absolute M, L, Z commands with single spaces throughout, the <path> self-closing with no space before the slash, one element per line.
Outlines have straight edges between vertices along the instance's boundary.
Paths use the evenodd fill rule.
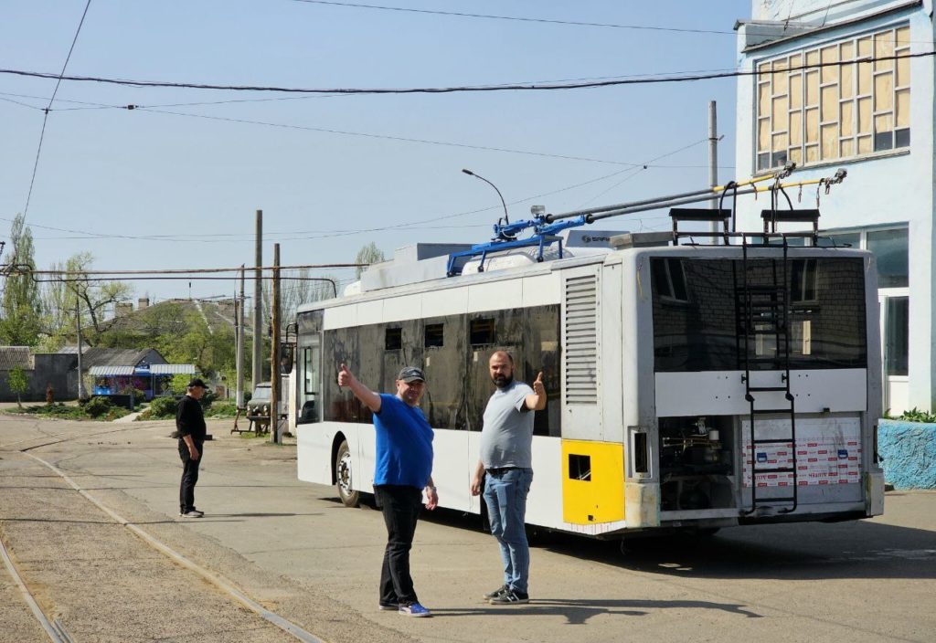
<path fill-rule="evenodd" d="M 816 207 L 835 243 L 877 259 L 884 408 L 936 399 L 932 0 L 753 0 L 736 24 L 739 177 L 796 163 L 796 179 L 848 172 Z M 797 201 L 800 205 L 797 206 Z M 760 224 L 765 200 L 739 202 Z"/>

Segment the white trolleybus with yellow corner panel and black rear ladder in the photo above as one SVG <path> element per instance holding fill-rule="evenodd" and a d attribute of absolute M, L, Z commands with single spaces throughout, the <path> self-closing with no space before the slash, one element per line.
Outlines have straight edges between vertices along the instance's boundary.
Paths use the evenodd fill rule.
<path fill-rule="evenodd" d="M 427 377 L 440 504 L 479 513 L 469 483 L 488 360 L 508 350 L 516 377 L 542 371 L 548 392 L 530 525 L 617 538 L 881 514 L 872 256 L 824 247 L 818 211 L 768 211 L 772 232 L 752 236 L 715 210 L 724 235 L 695 243 L 678 223 L 703 212 L 673 210 L 672 233 L 557 238 L 563 224 L 538 216 L 532 240 L 495 226 L 489 246 L 419 244 L 300 308 L 299 478 L 336 484 L 348 506 L 372 493 L 372 416 L 338 387 L 338 367 L 392 392 L 413 364 Z M 808 234 L 776 232 L 811 218 Z"/>

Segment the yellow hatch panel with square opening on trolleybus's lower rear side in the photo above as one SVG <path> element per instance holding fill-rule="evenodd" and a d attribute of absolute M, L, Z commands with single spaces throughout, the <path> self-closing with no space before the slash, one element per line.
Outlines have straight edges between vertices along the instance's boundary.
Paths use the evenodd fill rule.
<path fill-rule="evenodd" d="M 623 445 L 563 440 L 563 521 L 591 524 L 623 519 Z"/>

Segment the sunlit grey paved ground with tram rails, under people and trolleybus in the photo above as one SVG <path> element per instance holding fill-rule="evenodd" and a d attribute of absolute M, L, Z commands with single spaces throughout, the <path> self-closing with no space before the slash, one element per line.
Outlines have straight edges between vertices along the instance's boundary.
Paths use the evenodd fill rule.
<path fill-rule="evenodd" d="M 197 505 L 176 518 L 169 422 L 0 416 L 0 536 L 75 641 L 290 640 L 130 536 L 19 450 L 327 641 L 919 641 L 936 632 L 936 493 L 888 493 L 885 516 L 617 544 L 550 537 L 528 606 L 493 607 L 499 558 L 476 519 L 420 522 L 414 577 L 435 616 L 376 611 L 380 514 L 301 483 L 295 449 L 212 422 Z M 70 438 L 64 442 L 57 442 Z M 47 444 L 47 446 L 39 446 Z M 0 641 L 44 640 L 0 573 Z"/>

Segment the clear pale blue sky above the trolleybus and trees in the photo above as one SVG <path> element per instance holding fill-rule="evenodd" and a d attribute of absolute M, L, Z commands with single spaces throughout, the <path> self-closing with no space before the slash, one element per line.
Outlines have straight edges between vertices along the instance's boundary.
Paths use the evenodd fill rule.
<path fill-rule="evenodd" d="M 750 0 L 91 0 L 75 39 L 87 4 L 5 0 L 0 68 L 57 75 L 74 40 L 66 75 L 255 87 L 726 71 L 738 57 L 733 25 L 751 11 Z M 701 189 L 711 100 L 719 179 L 735 178 L 735 85 L 308 95 L 72 80 L 56 90 L 54 78 L 0 73 L 0 238 L 25 213 L 39 268 L 81 251 L 102 270 L 232 267 L 254 264 L 262 209 L 264 264 L 274 243 L 284 265 L 351 263 L 371 242 L 388 257 L 416 242 L 481 243 L 503 209 L 462 168 L 500 189 L 511 221 L 533 205 L 559 213 Z M 664 211 L 595 225 L 668 226 Z M 210 297 L 234 293 L 235 280 L 134 288 Z"/>

